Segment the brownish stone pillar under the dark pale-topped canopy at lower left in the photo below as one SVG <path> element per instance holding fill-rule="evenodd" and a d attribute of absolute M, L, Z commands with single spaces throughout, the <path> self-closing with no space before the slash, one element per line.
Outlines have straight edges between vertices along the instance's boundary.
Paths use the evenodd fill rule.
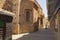
<path fill-rule="evenodd" d="M 6 23 L 6 39 L 12 40 L 12 23 Z"/>

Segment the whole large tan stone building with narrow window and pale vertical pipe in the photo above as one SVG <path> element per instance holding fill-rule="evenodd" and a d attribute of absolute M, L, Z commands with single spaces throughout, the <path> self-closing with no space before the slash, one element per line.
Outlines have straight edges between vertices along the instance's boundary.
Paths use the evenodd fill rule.
<path fill-rule="evenodd" d="M 0 8 L 15 13 L 13 34 L 37 31 L 43 23 L 43 12 L 36 0 L 0 0 Z"/>

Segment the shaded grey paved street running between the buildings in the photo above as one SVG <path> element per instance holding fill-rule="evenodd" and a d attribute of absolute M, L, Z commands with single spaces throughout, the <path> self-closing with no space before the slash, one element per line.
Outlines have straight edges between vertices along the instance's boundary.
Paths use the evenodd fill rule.
<path fill-rule="evenodd" d="M 25 35 L 17 40 L 57 40 L 55 32 L 51 32 L 49 29 L 42 29 L 35 33 Z"/>

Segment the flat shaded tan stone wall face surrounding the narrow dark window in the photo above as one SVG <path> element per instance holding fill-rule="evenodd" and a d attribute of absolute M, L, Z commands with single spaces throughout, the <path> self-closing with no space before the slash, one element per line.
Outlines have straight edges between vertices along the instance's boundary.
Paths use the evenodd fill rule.
<path fill-rule="evenodd" d="M 20 32 L 33 32 L 33 3 L 30 0 L 22 0 L 20 4 Z M 30 22 L 26 21 L 26 12 L 30 12 Z M 28 15 L 27 15 L 28 16 Z"/>

